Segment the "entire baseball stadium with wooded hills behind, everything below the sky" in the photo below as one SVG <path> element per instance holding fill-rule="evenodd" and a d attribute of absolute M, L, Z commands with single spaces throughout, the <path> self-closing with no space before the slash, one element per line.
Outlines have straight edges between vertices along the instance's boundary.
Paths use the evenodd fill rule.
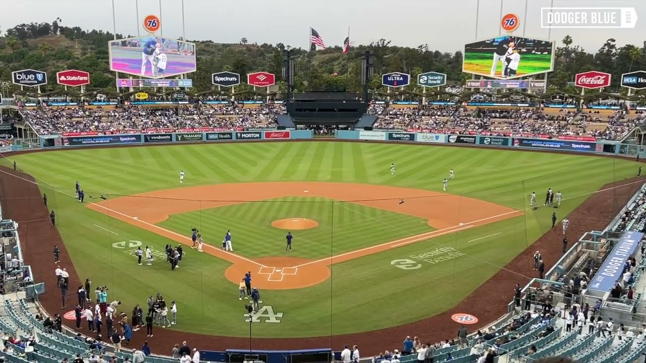
<path fill-rule="evenodd" d="M 640 48 L 476 25 L 435 68 L 139 8 L 0 36 L 0 361 L 643 360 Z"/>

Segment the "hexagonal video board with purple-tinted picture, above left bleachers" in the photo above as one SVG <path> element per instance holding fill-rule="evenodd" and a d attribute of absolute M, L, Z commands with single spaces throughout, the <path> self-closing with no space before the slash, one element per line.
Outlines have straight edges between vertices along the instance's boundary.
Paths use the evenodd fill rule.
<path fill-rule="evenodd" d="M 110 70 L 132 76 L 163 78 L 197 69 L 195 44 L 168 37 L 149 35 L 111 40 L 108 52 Z"/>

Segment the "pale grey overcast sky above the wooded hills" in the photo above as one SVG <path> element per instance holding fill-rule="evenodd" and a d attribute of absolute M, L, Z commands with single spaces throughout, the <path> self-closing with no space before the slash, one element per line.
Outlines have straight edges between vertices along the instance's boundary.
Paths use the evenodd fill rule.
<path fill-rule="evenodd" d="M 513 13 L 520 18 L 515 36 L 523 36 L 524 28 L 526 37 L 550 39 L 561 45 L 561 39 L 570 35 L 574 45 L 589 52 L 596 52 L 610 37 L 619 47 L 641 47 L 646 40 L 643 0 L 479 0 L 479 11 L 477 3 L 478 0 L 0 0 L 0 29 L 19 23 L 51 23 L 60 17 L 65 26 L 110 32 L 116 27 L 117 33 L 136 36 L 145 34 L 143 17 L 156 14 L 161 18 L 163 36 L 185 36 L 188 40 L 237 43 L 245 37 L 249 43 L 305 48 L 311 26 L 328 46 L 342 45 L 349 28 L 353 44 L 384 38 L 391 45 L 428 44 L 432 50 L 455 52 L 476 38 L 499 36 L 502 5 L 503 14 Z M 541 7 L 552 3 L 555 7 L 633 7 L 639 19 L 635 28 L 550 32 L 541 28 L 540 14 Z"/>

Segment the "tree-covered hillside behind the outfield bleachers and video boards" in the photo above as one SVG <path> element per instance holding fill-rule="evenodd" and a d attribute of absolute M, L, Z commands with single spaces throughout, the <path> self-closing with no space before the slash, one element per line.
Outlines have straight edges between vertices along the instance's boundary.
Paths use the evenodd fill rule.
<path fill-rule="evenodd" d="M 0 81 L 10 81 L 11 72 L 25 68 L 46 70 L 50 77 L 66 69 L 79 69 L 90 72 L 90 88 L 115 88 L 115 75 L 108 65 L 108 41 L 113 34 L 103 30 L 83 30 L 78 26 L 63 26 L 61 19 L 52 23 L 21 24 L 6 30 L 0 37 Z M 117 38 L 129 37 L 116 34 Z M 191 41 L 190 39 L 187 39 Z M 278 76 L 281 74 L 283 50 L 282 43 L 249 43 L 246 38 L 238 44 L 195 42 L 197 53 L 197 72 L 189 75 L 196 91 L 208 90 L 211 73 L 229 70 L 244 75 L 264 70 Z M 599 70 L 613 75 L 611 90 L 618 90 L 619 76 L 622 73 L 646 68 L 646 41 L 642 45 L 617 47 L 615 39 L 607 39 L 594 51 L 573 46 L 574 39 L 566 36 L 557 45 L 556 67 L 548 76 L 550 88 L 574 91 L 568 82 L 574 74 L 587 70 Z M 450 83 L 461 83 L 470 78 L 461 72 L 461 50 L 442 53 L 433 50 L 433 45 L 423 44 L 416 48 L 397 47 L 386 39 L 369 45 L 356 45 L 349 54 L 343 54 L 340 47 L 326 50 L 308 51 L 295 49 L 296 89 L 338 91 L 346 89 L 346 69 L 348 70 L 348 91 L 360 90 L 360 57 L 364 50 L 371 49 L 375 54 L 375 75 L 387 72 L 406 72 L 412 75 L 412 82 L 421 72 L 435 71 L 448 75 Z M 346 68 L 347 67 L 347 68 Z M 335 74 L 337 74 L 335 76 Z M 278 77 L 280 79 L 280 77 Z M 280 83 L 279 83 L 280 85 Z M 379 76 L 373 79 L 371 88 L 380 87 Z M 5 87 L 6 83 L 5 83 Z M 9 90 L 12 90 L 12 85 Z M 59 87 L 50 81 L 47 92 Z M 414 87 L 414 86 L 413 86 Z M 570 88 L 570 89 L 568 89 Z M 625 92 L 625 89 L 622 90 Z"/>

